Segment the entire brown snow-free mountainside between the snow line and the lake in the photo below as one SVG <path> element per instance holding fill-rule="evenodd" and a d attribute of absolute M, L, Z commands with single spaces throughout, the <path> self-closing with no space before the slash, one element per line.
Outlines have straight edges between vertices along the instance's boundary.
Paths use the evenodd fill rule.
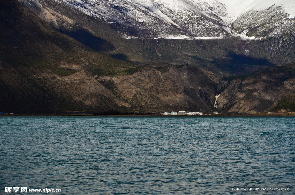
<path fill-rule="evenodd" d="M 29 9 L 17 1 L 0 3 L 1 111 L 265 113 L 286 108 L 284 97 L 293 95 L 294 64 L 272 67 L 272 62 L 291 61 L 292 33 L 252 41 L 239 37 L 124 39 L 103 21 L 78 11 L 73 14 L 66 5 L 58 5 L 64 9 L 60 13 L 53 6 L 42 5 L 55 18 L 46 20 L 40 18 L 36 6 Z M 130 55 L 142 52 L 139 55 L 144 54 L 143 59 L 151 63 L 131 63 L 106 55 L 124 58 L 124 53 L 113 52 L 118 50 Z M 152 62 L 168 58 L 182 65 Z M 235 74 L 271 68 L 223 78 L 198 65 L 220 75 L 222 70 Z"/>

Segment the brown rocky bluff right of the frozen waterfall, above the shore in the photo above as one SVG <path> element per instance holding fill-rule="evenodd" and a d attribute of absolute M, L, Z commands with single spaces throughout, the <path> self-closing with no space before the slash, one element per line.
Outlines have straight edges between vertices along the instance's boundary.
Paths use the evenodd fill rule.
<path fill-rule="evenodd" d="M 235 78 L 220 93 L 217 108 L 232 113 L 267 113 L 279 99 L 294 94 L 294 72 L 291 64 Z"/>

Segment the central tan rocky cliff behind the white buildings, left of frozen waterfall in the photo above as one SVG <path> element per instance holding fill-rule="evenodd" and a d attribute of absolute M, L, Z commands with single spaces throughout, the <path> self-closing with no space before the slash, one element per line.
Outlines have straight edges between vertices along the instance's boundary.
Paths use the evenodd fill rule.
<path fill-rule="evenodd" d="M 211 111 L 219 77 L 201 67 L 162 66 L 119 77 L 102 76 L 98 81 L 125 102 L 145 112 L 165 110 Z M 201 93 L 200 93 L 201 92 Z"/>

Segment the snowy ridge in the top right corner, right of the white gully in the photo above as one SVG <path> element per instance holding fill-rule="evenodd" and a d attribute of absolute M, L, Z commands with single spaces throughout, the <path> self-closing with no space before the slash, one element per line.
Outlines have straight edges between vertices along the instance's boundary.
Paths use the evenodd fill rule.
<path fill-rule="evenodd" d="M 295 1 L 257 0 L 249 2 L 233 22 L 237 33 L 261 38 L 294 32 Z"/>

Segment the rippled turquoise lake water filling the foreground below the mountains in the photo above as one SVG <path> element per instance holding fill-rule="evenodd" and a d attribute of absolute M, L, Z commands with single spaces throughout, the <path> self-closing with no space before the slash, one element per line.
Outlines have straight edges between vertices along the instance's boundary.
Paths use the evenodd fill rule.
<path fill-rule="evenodd" d="M 293 117 L 1 117 L 0 135 L 0 194 L 295 194 Z"/>

